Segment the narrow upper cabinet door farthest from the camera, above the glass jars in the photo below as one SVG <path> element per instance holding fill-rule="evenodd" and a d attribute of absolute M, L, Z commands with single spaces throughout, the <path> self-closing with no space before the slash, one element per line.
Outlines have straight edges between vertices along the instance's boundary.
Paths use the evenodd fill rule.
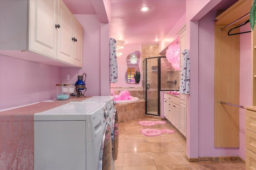
<path fill-rule="evenodd" d="M 74 64 L 82 67 L 83 57 L 83 27 L 78 22 L 76 17 L 73 20 L 73 36 L 76 39 L 74 42 Z"/>

